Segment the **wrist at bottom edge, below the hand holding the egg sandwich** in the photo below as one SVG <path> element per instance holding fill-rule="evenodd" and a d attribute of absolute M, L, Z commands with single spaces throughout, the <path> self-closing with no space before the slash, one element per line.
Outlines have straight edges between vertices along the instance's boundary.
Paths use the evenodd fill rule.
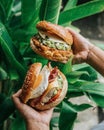
<path fill-rule="evenodd" d="M 40 122 L 26 123 L 26 130 L 49 130 L 49 126 Z"/>

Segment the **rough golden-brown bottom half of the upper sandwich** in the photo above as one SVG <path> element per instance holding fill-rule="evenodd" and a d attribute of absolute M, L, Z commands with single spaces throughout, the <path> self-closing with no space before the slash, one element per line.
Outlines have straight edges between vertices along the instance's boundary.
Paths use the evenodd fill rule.
<path fill-rule="evenodd" d="M 72 50 L 57 50 L 55 48 L 42 45 L 35 37 L 31 39 L 30 45 L 34 52 L 52 61 L 66 63 L 73 55 Z"/>

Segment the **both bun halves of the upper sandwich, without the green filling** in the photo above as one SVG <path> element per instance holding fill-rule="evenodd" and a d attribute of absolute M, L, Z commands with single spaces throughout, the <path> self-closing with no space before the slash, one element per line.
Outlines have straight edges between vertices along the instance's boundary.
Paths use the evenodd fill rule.
<path fill-rule="evenodd" d="M 67 45 L 70 47 L 73 44 L 73 37 L 71 33 L 62 26 L 52 24 L 47 21 L 40 21 L 36 27 L 39 32 L 42 32 L 49 37 L 62 40 L 66 42 Z M 52 61 L 66 63 L 69 60 L 69 58 L 73 55 L 72 49 L 59 50 L 56 48 L 45 46 L 41 44 L 35 36 L 31 38 L 30 44 L 34 52 Z"/>

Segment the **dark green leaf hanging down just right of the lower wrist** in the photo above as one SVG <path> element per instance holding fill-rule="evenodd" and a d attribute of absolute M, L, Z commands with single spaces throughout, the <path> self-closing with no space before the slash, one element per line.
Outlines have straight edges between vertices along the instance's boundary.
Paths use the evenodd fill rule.
<path fill-rule="evenodd" d="M 59 118 L 60 130 L 72 130 L 76 117 L 77 112 L 70 106 L 70 104 L 62 102 L 62 110 Z"/>

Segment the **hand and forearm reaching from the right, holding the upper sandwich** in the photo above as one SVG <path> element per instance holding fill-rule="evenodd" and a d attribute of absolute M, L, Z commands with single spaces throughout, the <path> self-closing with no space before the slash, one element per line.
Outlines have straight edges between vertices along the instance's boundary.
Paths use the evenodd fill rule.
<path fill-rule="evenodd" d="M 74 30 L 67 29 L 73 36 L 73 64 L 86 62 L 104 76 L 104 51 Z"/>

